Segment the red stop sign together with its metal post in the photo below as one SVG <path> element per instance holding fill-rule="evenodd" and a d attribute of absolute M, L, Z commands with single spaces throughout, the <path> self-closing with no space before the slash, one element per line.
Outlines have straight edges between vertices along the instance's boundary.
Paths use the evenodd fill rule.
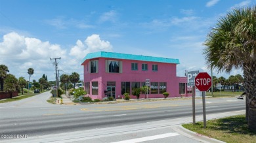
<path fill-rule="evenodd" d="M 195 77 L 195 86 L 198 90 L 202 91 L 203 99 L 203 128 L 206 128 L 206 114 L 205 114 L 205 91 L 211 87 L 211 76 L 207 72 L 200 72 Z"/>

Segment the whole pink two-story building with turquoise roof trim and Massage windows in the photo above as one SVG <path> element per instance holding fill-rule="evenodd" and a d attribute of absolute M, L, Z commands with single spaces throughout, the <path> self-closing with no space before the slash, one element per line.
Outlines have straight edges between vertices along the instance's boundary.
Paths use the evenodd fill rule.
<path fill-rule="evenodd" d="M 92 99 L 123 98 L 124 93 L 149 84 L 148 98 L 187 96 L 186 77 L 176 76 L 179 59 L 118 54 L 113 52 L 90 53 L 83 59 L 84 84 Z M 147 81 L 146 81 L 147 80 Z M 146 97 L 141 93 L 140 98 Z"/>

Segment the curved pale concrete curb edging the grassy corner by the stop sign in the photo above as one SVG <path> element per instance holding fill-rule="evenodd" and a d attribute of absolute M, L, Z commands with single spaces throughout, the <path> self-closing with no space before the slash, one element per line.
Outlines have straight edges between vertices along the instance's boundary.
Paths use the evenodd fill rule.
<path fill-rule="evenodd" d="M 173 130 L 176 131 L 177 133 L 187 136 L 188 138 L 192 138 L 194 140 L 198 140 L 200 142 L 205 142 L 205 143 L 224 143 L 221 140 L 217 140 L 215 138 L 210 138 L 209 136 L 201 135 L 195 132 L 192 132 L 184 127 L 182 125 L 177 125 L 173 126 Z"/>

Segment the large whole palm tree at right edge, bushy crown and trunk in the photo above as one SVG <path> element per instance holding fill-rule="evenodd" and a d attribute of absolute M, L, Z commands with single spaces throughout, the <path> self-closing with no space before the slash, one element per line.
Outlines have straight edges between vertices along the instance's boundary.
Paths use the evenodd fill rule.
<path fill-rule="evenodd" d="M 256 6 L 235 8 L 211 29 L 203 54 L 208 68 L 230 72 L 242 68 L 248 127 L 256 131 Z"/>

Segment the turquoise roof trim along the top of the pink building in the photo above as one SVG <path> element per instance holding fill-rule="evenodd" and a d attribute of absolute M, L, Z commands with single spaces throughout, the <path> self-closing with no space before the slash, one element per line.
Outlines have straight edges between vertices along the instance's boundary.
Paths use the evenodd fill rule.
<path fill-rule="evenodd" d="M 152 56 L 142 56 L 142 55 L 132 55 L 132 54 L 119 54 L 119 53 L 113 53 L 113 52 L 95 52 L 95 53 L 89 53 L 87 54 L 81 63 L 83 63 L 87 59 L 93 59 L 97 57 L 107 57 L 107 58 L 113 58 L 113 59 L 130 59 L 130 60 L 137 60 L 137 61 L 153 61 L 153 62 L 159 62 L 159 63 L 175 63 L 179 64 L 179 59 L 170 59 L 165 57 L 152 57 Z"/>

